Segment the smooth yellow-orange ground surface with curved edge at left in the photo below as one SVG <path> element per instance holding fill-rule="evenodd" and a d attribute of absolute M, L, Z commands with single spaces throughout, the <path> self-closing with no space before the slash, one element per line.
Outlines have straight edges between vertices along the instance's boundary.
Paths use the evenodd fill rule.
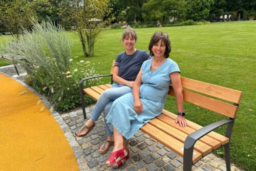
<path fill-rule="evenodd" d="M 0 74 L 0 170 L 78 170 L 68 140 L 40 99 Z M 43 111 L 41 111 L 43 110 Z"/>

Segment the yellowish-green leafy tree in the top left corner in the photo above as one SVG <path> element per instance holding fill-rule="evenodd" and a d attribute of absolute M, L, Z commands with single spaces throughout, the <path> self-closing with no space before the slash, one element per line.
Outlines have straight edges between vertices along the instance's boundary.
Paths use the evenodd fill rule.
<path fill-rule="evenodd" d="M 0 11 L 0 22 L 17 39 L 19 39 L 23 28 L 28 29 L 31 26 L 35 16 L 30 10 L 30 2 L 27 0 L 2 1 L 0 2 Z"/>

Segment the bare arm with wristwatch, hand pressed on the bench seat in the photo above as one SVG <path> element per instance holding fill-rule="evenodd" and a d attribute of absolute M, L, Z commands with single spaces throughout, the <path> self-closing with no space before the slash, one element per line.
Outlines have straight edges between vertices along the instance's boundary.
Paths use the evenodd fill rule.
<path fill-rule="evenodd" d="M 176 97 L 176 105 L 177 105 L 178 112 L 184 112 L 183 93 L 182 93 L 180 73 L 179 72 L 170 73 L 170 79 L 172 80 L 172 86 L 173 86 L 175 97 Z M 185 117 L 181 115 L 179 115 L 175 119 L 175 123 L 179 123 L 180 126 L 182 127 L 187 126 Z"/>

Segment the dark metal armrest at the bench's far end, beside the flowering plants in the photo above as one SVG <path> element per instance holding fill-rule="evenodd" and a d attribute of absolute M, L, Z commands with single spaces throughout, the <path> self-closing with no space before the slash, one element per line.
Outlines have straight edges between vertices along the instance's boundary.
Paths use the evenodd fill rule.
<path fill-rule="evenodd" d="M 106 77 L 106 76 L 111 76 L 111 83 L 113 83 L 113 75 L 112 74 L 108 74 L 108 75 L 96 75 L 93 77 L 87 77 L 87 78 L 83 78 L 79 81 L 79 92 L 80 92 L 80 101 L 82 104 L 82 113 L 83 113 L 83 118 L 86 119 L 86 106 L 84 104 L 84 92 L 83 92 L 83 82 L 87 81 L 89 79 L 94 79 L 94 78 L 99 78 L 99 77 Z"/>

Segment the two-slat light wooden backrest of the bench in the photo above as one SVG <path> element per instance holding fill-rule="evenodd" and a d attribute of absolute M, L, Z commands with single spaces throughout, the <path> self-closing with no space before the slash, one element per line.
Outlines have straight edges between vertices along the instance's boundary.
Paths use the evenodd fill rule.
<path fill-rule="evenodd" d="M 113 74 L 115 60 L 112 62 L 110 73 Z M 181 77 L 184 101 L 196 104 L 202 108 L 221 115 L 236 118 L 242 92 L 214 84 Z M 175 96 L 170 86 L 169 95 Z M 230 104 L 229 102 L 232 102 Z"/>

